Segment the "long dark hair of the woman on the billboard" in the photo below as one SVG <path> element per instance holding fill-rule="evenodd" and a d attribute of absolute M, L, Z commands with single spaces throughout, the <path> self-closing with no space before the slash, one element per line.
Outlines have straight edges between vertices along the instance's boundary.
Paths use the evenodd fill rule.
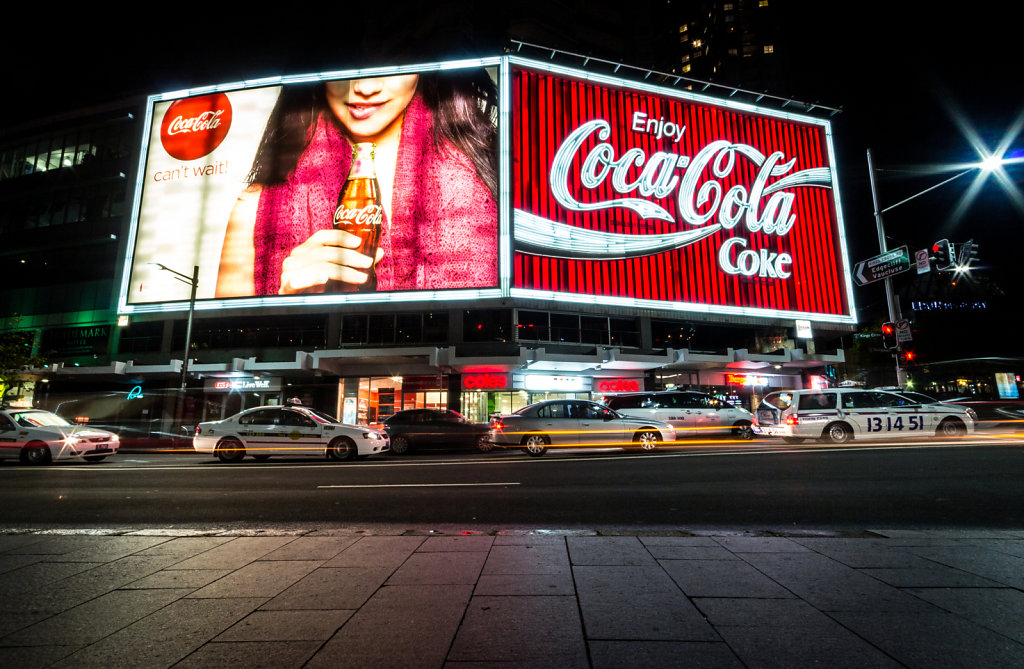
<path fill-rule="evenodd" d="M 497 197 L 498 92 L 487 73 L 481 69 L 421 74 L 418 92 L 433 117 L 434 143 L 452 142 L 465 154 L 476 175 Z M 249 182 L 270 185 L 286 181 L 325 111 L 330 113 L 323 83 L 285 86 L 263 131 Z"/>

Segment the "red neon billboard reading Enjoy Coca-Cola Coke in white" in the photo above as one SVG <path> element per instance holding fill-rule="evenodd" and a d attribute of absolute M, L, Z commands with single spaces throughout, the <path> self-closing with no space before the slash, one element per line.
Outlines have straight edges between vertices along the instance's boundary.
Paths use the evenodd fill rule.
<path fill-rule="evenodd" d="M 855 323 L 830 126 L 511 59 L 519 297 Z"/>

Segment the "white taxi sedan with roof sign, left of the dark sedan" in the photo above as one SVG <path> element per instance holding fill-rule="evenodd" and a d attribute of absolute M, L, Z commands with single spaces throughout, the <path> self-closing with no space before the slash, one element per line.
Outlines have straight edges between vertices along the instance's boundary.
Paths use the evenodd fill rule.
<path fill-rule="evenodd" d="M 388 450 L 387 433 L 338 422 L 309 407 L 257 407 L 224 420 L 196 426 L 193 448 L 222 462 L 240 462 L 246 455 L 266 460 L 271 455 L 318 455 L 351 460 Z"/>

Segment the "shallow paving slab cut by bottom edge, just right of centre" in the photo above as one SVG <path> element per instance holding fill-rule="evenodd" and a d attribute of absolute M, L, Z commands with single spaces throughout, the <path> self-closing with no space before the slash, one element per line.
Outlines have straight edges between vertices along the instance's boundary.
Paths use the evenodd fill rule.
<path fill-rule="evenodd" d="M 740 669 L 743 664 L 721 641 L 591 641 L 594 669 Z"/>

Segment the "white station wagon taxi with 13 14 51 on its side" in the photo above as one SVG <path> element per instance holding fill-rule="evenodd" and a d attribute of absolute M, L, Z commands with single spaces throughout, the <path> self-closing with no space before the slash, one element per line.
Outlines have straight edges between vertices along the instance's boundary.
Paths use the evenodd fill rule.
<path fill-rule="evenodd" d="M 765 396 L 754 416 L 754 432 L 790 444 L 819 440 L 945 436 L 974 432 L 972 409 L 943 403 L 919 404 L 883 390 L 828 388 L 783 390 Z"/>

